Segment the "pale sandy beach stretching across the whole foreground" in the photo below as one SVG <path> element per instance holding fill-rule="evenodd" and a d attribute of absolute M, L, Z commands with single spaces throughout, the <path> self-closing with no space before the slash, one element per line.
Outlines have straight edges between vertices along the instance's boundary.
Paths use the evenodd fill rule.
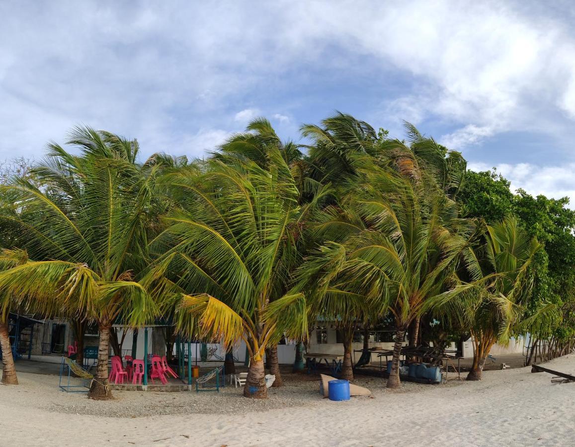
<path fill-rule="evenodd" d="M 575 356 L 548 365 L 572 373 Z M 318 395 L 301 406 L 266 412 L 197 414 L 190 409 L 187 415 L 140 418 L 48 411 L 47 400 L 53 409 L 58 402 L 64 406 L 85 398 L 38 387 L 35 375 L 21 375 L 20 387 L 0 387 L 0 445 L 575 445 L 575 383 L 551 384 L 551 375 L 530 371 L 489 371 L 481 382 L 461 386 L 376 389 L 373 399 L 350 402 Z M 132 394 L 144 401 L 141 395 Z M 170 398 L 173 404 L 182 402 L 168 394 L 155 399 L 169 405 Z"/>

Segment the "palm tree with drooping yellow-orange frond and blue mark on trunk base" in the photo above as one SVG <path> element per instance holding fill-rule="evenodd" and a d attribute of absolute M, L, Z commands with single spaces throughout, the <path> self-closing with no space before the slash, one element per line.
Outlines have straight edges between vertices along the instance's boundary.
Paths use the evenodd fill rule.
<path fill-rule="evenodd" d="M 229 146 L 228 146 L 229 149 Z M 305 299 L 289 292 L 302 213 L 298 191 L 277 144 L 273 163 L 229 150 L 200 174 L 164 179 L 177 203 L 151 248 L 154 294 L 171 295 L 177 329 L 229 346 L 246 341 L 250 367 L 244 395 L 265 398 L 264 350 L 285 334 L 307 334 Z"/>

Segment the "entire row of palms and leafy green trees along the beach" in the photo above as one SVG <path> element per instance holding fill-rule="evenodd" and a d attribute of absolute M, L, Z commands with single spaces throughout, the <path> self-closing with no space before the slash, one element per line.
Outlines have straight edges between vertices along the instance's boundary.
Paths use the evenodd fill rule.
<path fill-rule="evenodd" d="M 514 193 L 411 125 L 397 140 L 336 113 L 301 134 L 308 144 L 283 142 L 260 118 L 205 160 L 142 161 L 137 141 L 78 128 L 74 152 L 52 144 L 3 169 L 3 380 L 17 383 L 13 309 L 98 324 L 93 398 L 111 395 L 112 325 L 159 316 L 184 336 L 244 340 L 252 398 L 267 396 L 264 352 L 278 373 L 279 340 L 305 341 L 317 321 L 340 330 L 348 379 L 354 331 L 391 322 L 388 387 L 406 333 L 413 345 L 472 336 L 469 379 L 511 337 L 530 334 L 528 361 L 571 349 L 568 199 Z"/>

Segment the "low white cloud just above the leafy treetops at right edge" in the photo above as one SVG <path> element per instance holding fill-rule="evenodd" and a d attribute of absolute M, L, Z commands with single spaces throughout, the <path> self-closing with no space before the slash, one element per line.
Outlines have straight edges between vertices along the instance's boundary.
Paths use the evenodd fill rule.
<path fill-rule="evenodd" d="M 501 163 L 490 166 L 486 163 L 469 163 L 473 171 L 487 171 L 493 167 L 511 182 L 512 190 L 522 188 L 531 195 L 543 194 L 560 199 L 572 198 L 570 207 L 575 207 L 575 163 L 561 166 L 538 166 L 530 163 Z"/>

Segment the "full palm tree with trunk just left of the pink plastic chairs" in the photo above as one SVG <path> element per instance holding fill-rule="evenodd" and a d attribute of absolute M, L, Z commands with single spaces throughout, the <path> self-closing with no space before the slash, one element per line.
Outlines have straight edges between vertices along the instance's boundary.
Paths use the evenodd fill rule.
<path fill-rule="evenodd" d="M 136 163 L 137 141 L 76 128 L 72 155 L 50 144 L 34 169 L 43 188 L 24 179 L 0 187 L 14 204 L 3 226 L 21 232 L 30 260 L 0 273 L 0 295 L 26 296 L 47 315 L 78 316 L 98 323 L 99 348 L 92 398 L 111 396 L 110 329 L 140 326 L 157 306 L 135 279 L 147 265 L 150 223 L 155 222 L 155 169 Z"/>

